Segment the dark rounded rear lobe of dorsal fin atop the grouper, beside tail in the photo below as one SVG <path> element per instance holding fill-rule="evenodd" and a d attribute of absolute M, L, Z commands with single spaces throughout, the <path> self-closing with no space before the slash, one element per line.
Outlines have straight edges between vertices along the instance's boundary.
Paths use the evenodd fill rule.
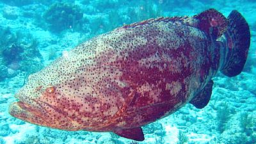
<path fill-rule="evenodd" d="M 219 38 L 226 31 L 228 20 L 219 11 L 209 9 L 195 15 L 198 19 L 197 28 L 209 34 L 214 39 Z"/>

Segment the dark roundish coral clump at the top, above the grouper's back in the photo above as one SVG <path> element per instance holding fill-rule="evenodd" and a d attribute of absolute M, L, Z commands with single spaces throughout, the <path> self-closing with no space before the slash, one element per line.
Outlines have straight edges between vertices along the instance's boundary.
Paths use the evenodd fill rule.
<path fill-rule="evenodd" d="M 51 31 L 60 32 L 65 29 L 79 29 L 83 20 L 83 12 L 79 6 L 70 3 L 54 3 L 44 13 L 44 19 Z"/>

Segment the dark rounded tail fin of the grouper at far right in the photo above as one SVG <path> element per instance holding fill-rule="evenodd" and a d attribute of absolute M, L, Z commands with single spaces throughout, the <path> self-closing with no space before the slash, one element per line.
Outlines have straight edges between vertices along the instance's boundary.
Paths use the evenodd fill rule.
<path fill-rule="evenodd" d="M 250 47 L 250 28 L 244 17 L 236 10 L 228 15 L 229 25 L 223 34 L 225 41 L 225 57 L 220 69 L 227 76 L 241 73 Z"/>

